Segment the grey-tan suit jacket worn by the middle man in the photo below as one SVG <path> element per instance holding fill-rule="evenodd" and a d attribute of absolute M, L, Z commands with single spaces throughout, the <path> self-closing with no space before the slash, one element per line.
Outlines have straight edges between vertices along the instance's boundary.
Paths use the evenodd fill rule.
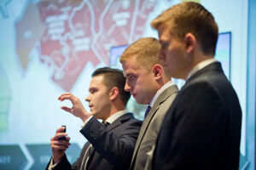
<path fill-rule="evenodd" d="M 157 134 L 160 131 L 160 126 L 168 111 L 172 101 L 175 99 L 178 92 L 176 85 L 166 88 L 159 97 L 155 100 L 154 105 L 148 112 L 148 116 L 143 121 L 143 127 L 139 133 L 135 150 L 133 152 L 130 169 L 144 169 L 146 162 L 150 159 L 147 155 L 148 151 L 152 150 L 155 145 Z"/>

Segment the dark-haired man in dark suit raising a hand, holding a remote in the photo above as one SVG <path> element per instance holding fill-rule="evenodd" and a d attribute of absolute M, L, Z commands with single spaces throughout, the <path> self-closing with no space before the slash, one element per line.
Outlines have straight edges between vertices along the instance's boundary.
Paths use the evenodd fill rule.
<path fill-rule="evenodd" d="M 61 94 L 59 99 L 69 99 L 73 107 L 61 109 L 78 116 L 84 126 L 80 133 L 88 140 L 79 156 L 71 165 L 65 150 L 69 145 L 67 133 L 59 128 L 51 139 L 53 156 L 47 169 L 127 169 L 130 166 L 141 122 L 125 110 L 130 94 L 125 92 L 122 71 L 111 68 L 97 69 L 92 74 L 89 95 L 91 115 L 84 110 L 73 94 Z M 98 122 L 97 119 L 102 119 Z M 65 137 L 66 140 L 60 140 Z"/>

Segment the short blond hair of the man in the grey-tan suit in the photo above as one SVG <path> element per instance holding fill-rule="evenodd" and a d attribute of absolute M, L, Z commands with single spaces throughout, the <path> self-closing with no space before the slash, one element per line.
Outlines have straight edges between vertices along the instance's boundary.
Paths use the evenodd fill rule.
<path fill-rule="evenodd" d="M 157 55 L 160 51 L 160 42 L 154 37 L 142 37 L 125 49 L 119 61 L 124 63 L 126 60 L 135 57 L 137 62 L 145 68 L 151 69 L 155 64 L 160 64 Z"/>

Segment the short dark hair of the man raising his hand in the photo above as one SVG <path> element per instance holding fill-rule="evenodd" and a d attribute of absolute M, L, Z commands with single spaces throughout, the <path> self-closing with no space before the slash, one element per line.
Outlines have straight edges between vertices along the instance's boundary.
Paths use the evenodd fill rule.
<path fill-rule="evenodd" d="M 126 79 L 123 75 L 123 71 L 119 69 L 113 69 L 110 67 L 102 67 L 96 69 L 96 71 L 94 71 L 91 74 L 91 77 L 96 77 L 100 75 L 103 76 L 103 83 L 109 90 L 114 87 L 119 89 L 119 94 L 123 102 L 123 105 L 127 105 L 127 102 L 131 97 L 131 94 L 125 91 Z"/>

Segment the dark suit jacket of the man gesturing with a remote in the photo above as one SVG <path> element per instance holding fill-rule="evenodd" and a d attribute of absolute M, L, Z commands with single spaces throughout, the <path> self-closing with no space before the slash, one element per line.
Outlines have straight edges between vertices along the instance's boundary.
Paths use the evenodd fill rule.
<path fill-rule="evenodd" d="M 82 164 L 84 169 L 84 161 L 87 160 L 84 154 L 90 144 L 93 147 L 86 169 L 128 169 L 141 125 L 142 122 L 132 113 L 120 116 L 108 127 L 92 117 L 80 130 L 88 142 L 84 144 L 79 159 L 71 166 L 64 156 L 54 170 L 80 169 Z"/>

